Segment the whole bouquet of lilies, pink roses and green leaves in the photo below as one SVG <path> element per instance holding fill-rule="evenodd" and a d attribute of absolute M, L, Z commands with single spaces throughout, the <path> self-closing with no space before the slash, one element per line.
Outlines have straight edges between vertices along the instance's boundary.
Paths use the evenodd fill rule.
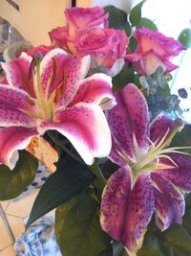
<path fill-rule="evenodd" d="M 143 2 L 68 9 L 50 46 L 2 63 L 0 199 L 42 162 L 27 227 L 56 208 L 66 256 L 191 255 L 191 129 L 168 84 L 190 30 L 160 34 Z"/>

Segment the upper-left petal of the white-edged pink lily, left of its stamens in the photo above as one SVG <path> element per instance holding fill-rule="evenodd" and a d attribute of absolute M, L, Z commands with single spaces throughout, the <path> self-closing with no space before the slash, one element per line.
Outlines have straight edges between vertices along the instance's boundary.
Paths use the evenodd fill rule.
<path fill-rule="evenodd" d="M 32 79 L 29 81 L 31 62 L 32 57 L 22 53 L 19 58 L 10 62 L 1 62 L 1 65 L 10 85 L 23 89 L 30 95 L 34 95 Z"/>

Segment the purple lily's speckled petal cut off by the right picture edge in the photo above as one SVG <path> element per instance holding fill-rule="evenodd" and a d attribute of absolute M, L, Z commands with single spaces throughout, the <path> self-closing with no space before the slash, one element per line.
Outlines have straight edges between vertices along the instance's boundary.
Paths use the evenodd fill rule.
<path fill-rule="evenodd" d="M 173 169 L 156 170 L 156 172 L 169 179 L 183 191 L 191 192 L 191 156 L 180 153 L 169 153 L 168 156 L 177 166 L 174 166 Z M 168 159 L 161 159 L 161 162 L 172 165 Z"/>

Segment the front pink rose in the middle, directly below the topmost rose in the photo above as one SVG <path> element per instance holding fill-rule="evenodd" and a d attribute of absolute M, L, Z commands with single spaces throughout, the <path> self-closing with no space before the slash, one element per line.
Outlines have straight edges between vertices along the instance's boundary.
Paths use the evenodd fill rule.
<path fill-rule="evenodd" d="M 92 29 L 80 35 L 76 33 L 74 43 L 75 55 L 83 57 L 90 55 L 96 64 L 108 69 L 112 68 L 115 61 L 126 53 L 129 38 L 124 31 L 115 29 Z"/>

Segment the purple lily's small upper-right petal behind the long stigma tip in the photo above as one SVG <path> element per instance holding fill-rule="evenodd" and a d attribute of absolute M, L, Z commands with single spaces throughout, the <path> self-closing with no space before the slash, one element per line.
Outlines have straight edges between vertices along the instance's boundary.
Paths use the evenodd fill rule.
<path fill-rule="evenodd" d="M 170 117 L 161 113 L 150 124 L 150 139 L 153 142 L 161 140 L 164 136 L 167 139 L 174 128 L 181 128 L 182 126 L 183 123 L 179 118 L 173 121 Z"/>

